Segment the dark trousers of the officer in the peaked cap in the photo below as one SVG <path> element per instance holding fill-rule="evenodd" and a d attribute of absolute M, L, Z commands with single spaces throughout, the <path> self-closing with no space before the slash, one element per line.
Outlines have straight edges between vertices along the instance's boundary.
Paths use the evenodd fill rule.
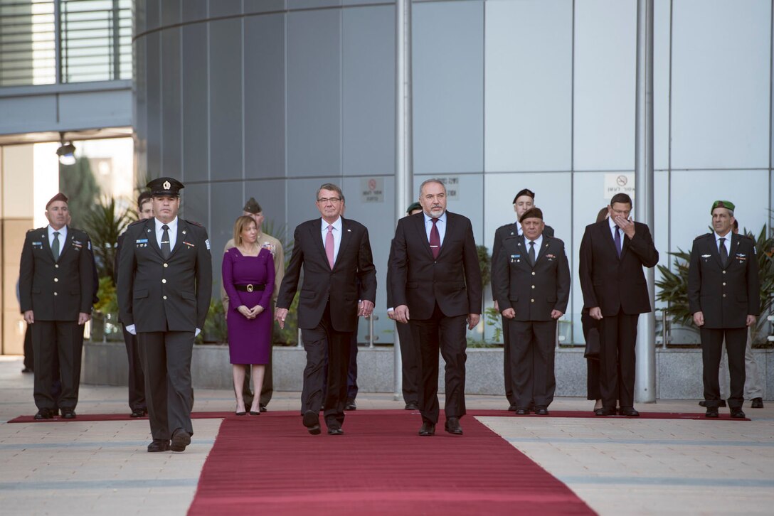
<path fill-rule="evenodd" d="M 153 439 L 170 439 L 176 429 L 193 434 L 191 354 L 194 332 L 138 333 L 140 360 Z"/>

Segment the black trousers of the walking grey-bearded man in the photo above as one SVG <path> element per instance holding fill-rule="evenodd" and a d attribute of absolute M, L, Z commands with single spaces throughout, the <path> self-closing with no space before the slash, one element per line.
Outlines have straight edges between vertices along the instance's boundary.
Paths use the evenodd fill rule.
<path fill-rule="evenodd" d="M 447 419 L 465 415 L 465 361 L 467 339 L 464 316 L 444 316 L 438 303 L 430 319 L 409 320 L 414 342 L 420 344 L 420 412 L 423 421 L 438 422 L 438 351 L 446 362 Z"/>

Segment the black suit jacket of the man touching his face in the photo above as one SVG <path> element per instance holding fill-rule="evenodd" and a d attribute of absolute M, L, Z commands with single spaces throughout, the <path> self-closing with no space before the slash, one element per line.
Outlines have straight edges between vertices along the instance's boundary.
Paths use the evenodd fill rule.
<path fill-rule="evenodd" d="M 659 251 L 646 224 L 635 222 L 635 235 L 623 234 L 621 258 L 607 219 L 589 224 L 580 241 L 580 289 L 584 306 L 599 306 L 602 316 L 651 311 L 648 286 L 642 267 L 655 267 Z"/>

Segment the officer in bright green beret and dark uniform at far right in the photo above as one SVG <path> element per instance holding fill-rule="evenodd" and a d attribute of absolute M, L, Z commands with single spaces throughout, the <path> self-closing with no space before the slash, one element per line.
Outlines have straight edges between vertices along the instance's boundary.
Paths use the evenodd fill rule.
<path fill-rule="evenodd" d="M 714 233 L 694 240 L 688 266 L 688 303 L 701 333 L 704 364 L 704 402 L 707 417 L 717 418 L 720 384 L 717 380 L 721 347 L 725 338 L 731 392 L 728 408 L 732 418 L 744 418 L 745 347 L 747 328 L 760 313 L 760 283 L 755 242 L 734 234 L 735 206 L 728 200 L 712 204 Z"/>

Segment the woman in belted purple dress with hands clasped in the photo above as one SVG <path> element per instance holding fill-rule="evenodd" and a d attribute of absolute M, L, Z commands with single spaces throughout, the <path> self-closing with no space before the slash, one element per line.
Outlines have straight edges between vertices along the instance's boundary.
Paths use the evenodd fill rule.
<path fill-rule="evenodd" d="M 252 398 L 250 415 L 260 415 L 259 400 L 265 364 L 269 363 L 272 345 L 272 314 L 269 302 L 274 291 L 274 258 L 268 249 L 256 242 L 258 227 L 251 217 L 239 217 L 234 224 L 235 248 L 223 256 L 223 287 L 228 293 L 228 351 L 234 373 L 237 415 L 245 415 L 242 384 L 245 367 L 252 364 Z"/>

